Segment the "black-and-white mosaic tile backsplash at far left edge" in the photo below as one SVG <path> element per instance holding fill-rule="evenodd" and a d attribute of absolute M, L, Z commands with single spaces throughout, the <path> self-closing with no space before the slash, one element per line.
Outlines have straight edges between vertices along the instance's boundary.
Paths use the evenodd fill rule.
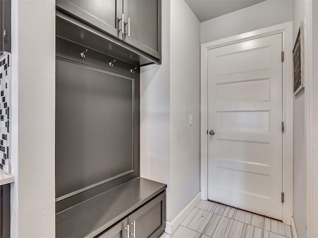
<path fill-rule="evenodd" d="M 0 56 L 0 169 L 11 172 L 11 54 Z"/>

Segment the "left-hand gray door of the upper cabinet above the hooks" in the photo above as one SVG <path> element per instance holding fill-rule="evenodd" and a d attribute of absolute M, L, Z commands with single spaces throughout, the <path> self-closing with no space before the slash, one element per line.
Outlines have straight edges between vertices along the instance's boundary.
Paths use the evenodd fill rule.
<path fill-rule="evenodd" d="M 123 0 L 56 0 L 56 6 L 107 34 L 123 39 L 120 20 Z"/>

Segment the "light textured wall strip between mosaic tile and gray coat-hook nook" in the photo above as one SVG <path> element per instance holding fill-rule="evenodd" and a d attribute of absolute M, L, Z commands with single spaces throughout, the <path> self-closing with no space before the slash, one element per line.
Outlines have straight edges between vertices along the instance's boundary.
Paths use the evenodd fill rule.
<path fill-rule="evenodd" d="M 12 0 L 12 238 L 55 237 L 55 0 Z"/>

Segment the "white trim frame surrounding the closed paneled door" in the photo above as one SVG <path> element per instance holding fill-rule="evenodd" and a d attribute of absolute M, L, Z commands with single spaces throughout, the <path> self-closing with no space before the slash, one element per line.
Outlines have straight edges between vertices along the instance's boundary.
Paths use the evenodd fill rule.
<path fill-rule="evenodd" d="M 293 216 L 293 22 L 266 27 L 232 37 L 201 44 L 200 76 L 200 152 L 201 152 L 201 193 L 202 200 L 208 200 L 208 50 L 282 33 L 282 46 L 285 53 L 283 62 L 283 222 L 291 225 Z"/>

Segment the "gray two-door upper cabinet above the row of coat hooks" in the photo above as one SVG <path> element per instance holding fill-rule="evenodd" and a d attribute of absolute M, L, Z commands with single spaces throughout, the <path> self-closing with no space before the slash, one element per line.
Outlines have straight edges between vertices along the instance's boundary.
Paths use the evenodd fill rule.
<path fill-rule="evenodd" d="M 161 0 L 56 0 L 59 10 L 161 60 Z"/>

